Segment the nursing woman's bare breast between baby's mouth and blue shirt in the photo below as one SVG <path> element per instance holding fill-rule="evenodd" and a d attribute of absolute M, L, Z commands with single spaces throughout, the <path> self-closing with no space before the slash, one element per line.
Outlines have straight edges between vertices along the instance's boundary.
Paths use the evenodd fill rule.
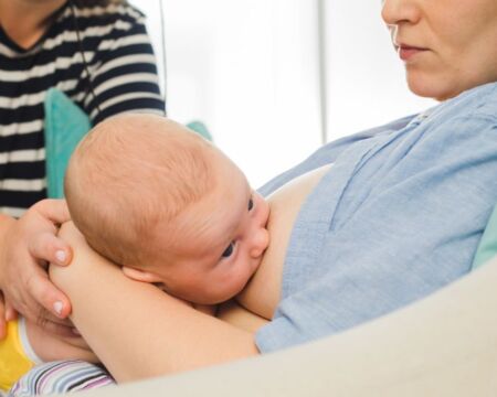
<path fill-rule="evenodd" d="M 261 266 L 245 289 L 236 297 L 240 307 L 264 319 L 272 319 L 279 302 L 283 266 L 294 222 L 307 195 L 331 165 L 305 173 L 267 197 L 271 215 L 267 229 L 269 246 Z"/>

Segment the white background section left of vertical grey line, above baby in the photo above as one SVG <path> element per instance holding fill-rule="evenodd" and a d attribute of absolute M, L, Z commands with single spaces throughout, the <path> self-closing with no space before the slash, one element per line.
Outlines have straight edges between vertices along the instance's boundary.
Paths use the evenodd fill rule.
<path fill-rule="evenodd" d="M 161 58 L 159 2 L 149 17 Z M 320 143 L 316 10 L 308 0 L 163 0 L 169 116 L 204 121 L 258 186 Z"/>

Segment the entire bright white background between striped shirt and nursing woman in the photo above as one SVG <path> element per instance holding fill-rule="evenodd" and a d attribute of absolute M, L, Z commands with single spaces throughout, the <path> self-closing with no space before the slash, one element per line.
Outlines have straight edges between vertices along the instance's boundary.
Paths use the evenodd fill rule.
<path fill-rule="evenodd" d="M 318 1 L 162 0 L 169 116 L 204 121 L 254 186 L 321 142 Z M 159 0 L 131 3 L 162 67 Z M 379 0 L 324 3 L 328 140 L 432 105 L 409 93 Z"/>

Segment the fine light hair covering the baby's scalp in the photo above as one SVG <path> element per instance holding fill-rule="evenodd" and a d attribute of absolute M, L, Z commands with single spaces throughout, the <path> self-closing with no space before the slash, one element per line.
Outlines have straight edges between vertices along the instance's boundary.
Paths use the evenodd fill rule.
<path fill-rule="evenodd" d="M 120 265 L 145 265 L 156 227 L 215 185 L 210 142 L 165 117 L 125 114 L 98 124 L 78 144 L 65 176 L 74 224 Z"/>

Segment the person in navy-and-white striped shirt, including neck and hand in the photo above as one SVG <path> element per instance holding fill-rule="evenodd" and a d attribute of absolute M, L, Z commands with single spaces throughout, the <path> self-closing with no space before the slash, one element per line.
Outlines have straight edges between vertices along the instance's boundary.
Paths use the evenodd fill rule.
<path fill-rule="evenodd" d="M 40 307 L 33 303 L 41 302 L 57 321 L 70 303 L 38 265 L 65 262 L 71 255 L 47 221 L 64 217 L 64 207 L 40 203 L 46 197 L 49 88 L 66 94 L 93 124 L 121 111 L 163 114 L 144 15 L 123 0 L 0 0 L 0 267 L 28 265 L 15 275 L 3 272 L 0 288 L 28 318 L 35 319 Z M 30 291 L 15 288 L 11 277 L 31 279 Z"/>

